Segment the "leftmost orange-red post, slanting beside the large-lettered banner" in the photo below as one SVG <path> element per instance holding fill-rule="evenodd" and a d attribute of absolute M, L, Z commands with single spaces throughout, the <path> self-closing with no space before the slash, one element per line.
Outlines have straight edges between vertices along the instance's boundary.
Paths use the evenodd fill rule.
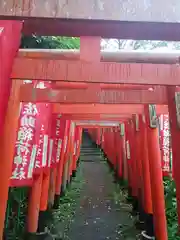
<path fill-rule="evenodd" d="M 12 163 L 14 156 L 14 146 L 19 120 L 19 90 L 22 81 L 14 80 L 5 117 L 3 134 L 0 138 L 0 175 L 1 175 L 1 194 L 0 194 L 0 239 L 3 238 L 4 220 L 6 205 L 8 200 L 8 190 L 12 173 Z"/>

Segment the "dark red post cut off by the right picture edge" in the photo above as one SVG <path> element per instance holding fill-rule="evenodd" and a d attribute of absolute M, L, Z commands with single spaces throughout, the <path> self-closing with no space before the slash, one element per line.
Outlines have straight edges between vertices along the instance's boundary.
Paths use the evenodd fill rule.
<path fill-rule="evenodd" d="M 180 112 L 179 112 L 179 88 L 167 87 L 168 94 L 168 108 L 169 108 L 169 121 L 171 130 L 171 141 L 172 141 L 172 167 L 173 177 L 176 183 L 176 198 L 177 198 L 177 213 L 178 213 L 178 224 L 180 232 Z"/>

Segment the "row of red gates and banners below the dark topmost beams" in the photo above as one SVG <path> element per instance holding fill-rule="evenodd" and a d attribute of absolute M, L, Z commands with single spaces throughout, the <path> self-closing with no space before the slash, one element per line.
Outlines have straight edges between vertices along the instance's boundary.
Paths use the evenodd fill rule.
<path fill-rule="evenodd" d="M 142 204 L 154 226 L 144 236 L 168 239 L 162 173 L 176 182 L 180 224 L 179 64 L 101 61 L 100 37 L 81 37 L 77 59 L 22 54 L 22 23 L 0 23 L 0 239 L 9 187 L 31 188 L 31 234 L 39 214 L 57 207 L 76 172 L 83 128 Z"/>

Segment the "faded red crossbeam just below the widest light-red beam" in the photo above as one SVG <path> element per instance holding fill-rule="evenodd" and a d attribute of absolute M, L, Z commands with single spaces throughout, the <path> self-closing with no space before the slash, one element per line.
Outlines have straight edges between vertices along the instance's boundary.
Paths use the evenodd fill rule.
<path fill-rule="evenodd" d="M 86 83 L 83 83 L 82 85 L 84 84 Z M 20 101 L 52 103 L 167 104 L 167 92 L 165 87 L 155 87 L 154 91 L 130 90 L 128 88 L 126 90 L 119 88 L 113 91 L 110 89 L 101 90 L 96 87 L 90 87 L 87 89 L 52 90 L 35 89 L 32 84 L 25 84 L 20 91 Z"/>

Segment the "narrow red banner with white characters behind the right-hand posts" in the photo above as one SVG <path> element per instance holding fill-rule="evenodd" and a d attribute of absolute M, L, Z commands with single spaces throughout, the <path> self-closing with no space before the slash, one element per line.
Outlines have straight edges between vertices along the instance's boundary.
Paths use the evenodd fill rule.
<path fill-rule="evenodd" d="M 163 174 L 168 175 L 170 172 L 170 130 L 168 115 L 160 116 L 160 148 Z"/>

